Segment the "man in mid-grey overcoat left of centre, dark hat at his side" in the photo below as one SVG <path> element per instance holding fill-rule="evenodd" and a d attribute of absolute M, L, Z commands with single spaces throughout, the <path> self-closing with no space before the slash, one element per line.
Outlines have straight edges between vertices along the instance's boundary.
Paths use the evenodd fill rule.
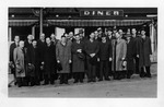
<path fill-rule="evenodd" d="M 62 67 L 61 71 L 57 71 L 60 74 L 60 84 L 68 84 L 68 78 L 70 73 L 71 60 L 71 41 L 68 41 L 66 36 L 61 36 L 61 40 L 58 41 L 56 47 L 57 63 Z"/>

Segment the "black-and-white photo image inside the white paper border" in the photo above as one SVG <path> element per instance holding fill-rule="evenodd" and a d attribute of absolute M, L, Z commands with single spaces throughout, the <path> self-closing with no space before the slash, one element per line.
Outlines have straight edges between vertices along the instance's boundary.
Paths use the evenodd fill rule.
<path fill-rule="evenodd" d="M 8 12 L 9 97 L 156 97 L 157 8 Z"/>

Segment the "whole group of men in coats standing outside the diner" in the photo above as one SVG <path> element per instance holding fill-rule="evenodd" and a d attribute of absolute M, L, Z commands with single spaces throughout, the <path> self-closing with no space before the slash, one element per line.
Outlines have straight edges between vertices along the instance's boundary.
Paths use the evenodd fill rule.
<path fill-rule="evenodd" d="M 75 35 L 70 32 L 60 40 L 55 34 L 46 38 L 40 34 L 38 40 L 28 35 L 25 41 L 15 36 L 10 67 L 19 87 L 55 84 L 58 79 L 60 84 L 68 84 L 71 78 L 74 83 L 83 83 L 85 78 L 87 82 L 130 79 L 133 73 L 151 78 L 151 39 L 144 28 L 138 34 L 136 28 L 124 33 L 109 27 L 104 33 L 99 27 L 89 37 L 81 31 Z"/>

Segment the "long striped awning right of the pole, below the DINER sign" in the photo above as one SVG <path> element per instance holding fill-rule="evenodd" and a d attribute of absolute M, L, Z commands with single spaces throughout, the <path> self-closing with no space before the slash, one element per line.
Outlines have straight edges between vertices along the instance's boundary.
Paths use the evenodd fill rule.
<path fill-rule="evenodd" d="M 55 26 L 130 26 L 142 25 L 151 20 L 48 20 Z"/>

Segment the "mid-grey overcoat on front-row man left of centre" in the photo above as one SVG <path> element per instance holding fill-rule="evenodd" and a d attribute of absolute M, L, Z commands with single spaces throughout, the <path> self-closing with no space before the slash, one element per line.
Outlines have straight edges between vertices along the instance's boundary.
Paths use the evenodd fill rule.
<path fill-rule="evenodd" d="M 67 41 L 66 46 L 58 41 L 56 46 L 56 58 L 60 61 L 62 66 L 62 70 L 58 71 L 58 73 L 70 73 L 70 64 L 69 60 L 71 60 L 71 41 Z"/>

